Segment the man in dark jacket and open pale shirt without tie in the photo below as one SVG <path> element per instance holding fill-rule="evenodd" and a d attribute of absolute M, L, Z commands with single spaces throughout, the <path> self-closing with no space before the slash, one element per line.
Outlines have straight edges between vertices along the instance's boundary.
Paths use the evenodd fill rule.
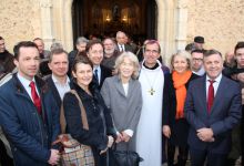
<path fill-rule="evenodd" d="M 64 94 L 70 91 L 70 79 L 67 73 L 69 70 L 68 53 L 63 49 L 57 49 L 51 52 L 49 59 L 49 69 L 51 76 L 47 79 L 52 95 L 60 107 Z"/>

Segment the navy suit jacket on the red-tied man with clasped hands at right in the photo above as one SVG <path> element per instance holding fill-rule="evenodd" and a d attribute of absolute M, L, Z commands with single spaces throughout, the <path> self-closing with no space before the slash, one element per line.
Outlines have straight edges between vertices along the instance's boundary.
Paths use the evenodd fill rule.
<path fill-rule="evenodd" d="M 211 113 L 206 106 L 206 75 L 190 83 L 185 102 L 185 117 L 191 125 L 189 145 L 194 149 L 227 154 L 231 149 L 231 132 L 242 116 L 242 98 L 240 85 L 222 76 Z M 202 127 L 213 129 L 215 141 L 202 142 L 196 131 Z"/>

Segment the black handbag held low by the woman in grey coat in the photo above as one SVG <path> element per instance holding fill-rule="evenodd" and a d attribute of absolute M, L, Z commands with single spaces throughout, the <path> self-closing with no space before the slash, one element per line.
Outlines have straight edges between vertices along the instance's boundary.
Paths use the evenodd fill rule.
<path fill-rule="evenodd" d="M 115 145 L 110 155 L 115 166 L 139 166 L 139 163 L 143 160 L 136 152 L 118 151 Z"/>

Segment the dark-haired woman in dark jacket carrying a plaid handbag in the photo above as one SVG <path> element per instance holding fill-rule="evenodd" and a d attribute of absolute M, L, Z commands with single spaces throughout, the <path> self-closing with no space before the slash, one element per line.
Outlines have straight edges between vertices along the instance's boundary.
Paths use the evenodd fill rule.
<path fill-rule="evenodd" d="M 113 144 L 115 132 L 112 118 L 104 101 L 92 83 L 92 63 L 87 56 L 77 59 L 73 63 L 71 90 L 75 90 L 84 106 L 89 131 L 83 128 L 79 101 L 72 93 L 67 93 L 63 98 L 67 133 L 92 148 L 95 166 L 106 165 L 105 152 Z"/>

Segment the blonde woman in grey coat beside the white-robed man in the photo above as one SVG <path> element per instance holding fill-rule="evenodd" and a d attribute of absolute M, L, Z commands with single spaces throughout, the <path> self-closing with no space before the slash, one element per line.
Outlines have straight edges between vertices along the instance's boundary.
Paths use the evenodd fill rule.
<path fill-rule="evenodd" d="M 116 149 L 135 151 L 135 132 L 141 115 L 142 94 L 138 58 L 131 52 L 123 52 L 115 61 L 118 74 L 108 77 L 101 94 L 111 110 L 116 129 Z"/>

